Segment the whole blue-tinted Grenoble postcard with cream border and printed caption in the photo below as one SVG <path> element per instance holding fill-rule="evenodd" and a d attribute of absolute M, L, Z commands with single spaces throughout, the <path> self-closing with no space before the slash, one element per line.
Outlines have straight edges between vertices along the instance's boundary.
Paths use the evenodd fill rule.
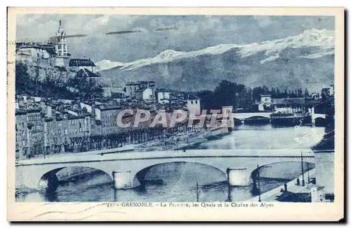
<path fill-rule="evenodd" d="M 8 220 L 343 220 L 343 8 L 8 8 L 7 47 Z"/>

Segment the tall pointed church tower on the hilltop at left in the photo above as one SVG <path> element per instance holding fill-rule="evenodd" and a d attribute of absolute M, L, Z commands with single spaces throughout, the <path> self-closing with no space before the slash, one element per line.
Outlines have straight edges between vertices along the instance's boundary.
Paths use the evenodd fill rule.
<path fill-rule="evenodd" d="M 67 38 L 65 31 L 62 29 L 62 22 L 59 21 L 58 31 L 56 31 L 55 41 L 56 62 L 55 66 L 65 66 L 68 62 Z"/>

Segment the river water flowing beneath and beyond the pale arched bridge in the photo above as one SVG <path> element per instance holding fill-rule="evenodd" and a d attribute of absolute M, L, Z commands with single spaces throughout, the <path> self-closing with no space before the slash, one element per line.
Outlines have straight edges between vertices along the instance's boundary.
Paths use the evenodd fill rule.
<path fill-rule="evenodd" d="M 198 149 L 311 148 L 322 140 L 324 127 L 272 127 L 241 125 L 231 134 L 198 145 Z M 305 170 L 314 164 L 305 163 Z M 300 176 L 300 162 L 284 162 L 260 171 L 260 191 L 266 192 Z M 57 173 L 60 179 L 60 172 Z M 62 175 L 63 176 L 63 175 Z M 16 190 L 17 201 L 244 201 L 258 194 L 254 185 L 228 187 L 225 173 L 204 164 L 174 162 L 152 167 L 146 183 L 131 190 L 114 190 L 107 173 L 91 171 L 61 181 L 54 193 Z"/>

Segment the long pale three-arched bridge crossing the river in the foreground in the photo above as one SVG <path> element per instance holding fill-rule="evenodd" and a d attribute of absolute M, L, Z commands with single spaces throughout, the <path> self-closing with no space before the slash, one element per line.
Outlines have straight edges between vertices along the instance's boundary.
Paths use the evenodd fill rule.
<path fill-rule="evenodd" d="M 114 187 L 126 189 L 140 185 L 147 170 L 158 164 L 191 162 L 205 164 L 227 175 L 230 185 L 247 186 L 257 168 L 279 162 L 300 162 L 301 150 L 186 150 L 153 152 L 101 151 L 20 160 L 15 164 L 16 185 L 37 188 L 40 183 L 58 183 L 55 173 L 66 167 L 90 167 L 107 173 Z M 303 151 L 303 161 L 314 163 L 312 150 Z M 204 174 L 206 176 L 206 174 Z M 55 181 L 56 180 L 56 181 Z M 56 186 L 57 187 L 57 186 Z"/>

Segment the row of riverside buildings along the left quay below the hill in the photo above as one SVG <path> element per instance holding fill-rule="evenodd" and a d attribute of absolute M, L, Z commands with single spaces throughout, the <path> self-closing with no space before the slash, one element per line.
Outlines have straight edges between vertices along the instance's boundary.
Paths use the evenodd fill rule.
<path fill-rule="evenodd" d="M 129 86 L 131 83 L 127 84 Z M 152 94 L 138 97 L 139 88 L 134 90 L 133 94 L 129 93 L 129 96 L 126 92 L 119 99 L 95 101 L 17 96 L 16 158 L 116 148 L 128 143 L 149 141 L 174 131 L 174 129 L 150 129 L 149 126 L 157 110 L 165 110 L 168 121 L 171 120 L 174 109 L 200 113 L 200 99 L 192 94 L 173 96 L 168 90 L 154 90 L 153 82 L 138 82 L 133 85 L 138 88 L 145 85 L 146 88 L 152 87 Z M 132 110 L 133 114 L 124 113 L 121 122 L 131 123 L 131 127 L 123 128 L 117 124 L 117 116 L 127 108 Z M 138 128 L 133 128 L 138 109 L 149 110 L 152 117 L 138 124 Z M 176 134 L 176 131 L 174 133 Z"/>

